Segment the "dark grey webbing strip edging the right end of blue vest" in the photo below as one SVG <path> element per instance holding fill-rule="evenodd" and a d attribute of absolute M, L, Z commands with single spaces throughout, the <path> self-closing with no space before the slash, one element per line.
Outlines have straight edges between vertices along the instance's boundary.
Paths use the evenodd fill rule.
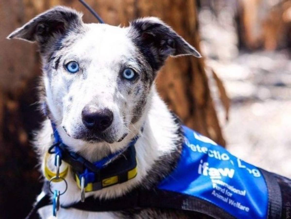
<path fill-rule="evenodd" d="M 280 219 L 282 213 L 282 194 L 277 179 L 273 173 L 260 169 L 268 189 L 268 219 Z"/>

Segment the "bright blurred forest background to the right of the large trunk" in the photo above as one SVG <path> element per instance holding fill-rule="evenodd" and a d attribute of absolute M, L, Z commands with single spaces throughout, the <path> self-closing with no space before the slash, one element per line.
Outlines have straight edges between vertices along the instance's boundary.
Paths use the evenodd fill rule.
<path fill-rule="evenodd" d="M 201 1 L 198 20 L 205 64 L 231 102 L 224 122 L 215 101 L 227 149 L 290 178 L 291 1 Z"/>

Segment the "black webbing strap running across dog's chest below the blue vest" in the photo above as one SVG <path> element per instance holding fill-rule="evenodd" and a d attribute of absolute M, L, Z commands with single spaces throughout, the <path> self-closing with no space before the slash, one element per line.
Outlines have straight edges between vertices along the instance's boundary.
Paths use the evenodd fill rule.
<path fill-rule="evenodd" d="M 90 196 L 85 202 L 77 202 L 62 208 L 74 208 L 82 211 L 126 211 L 130 209 L 159 208 L 203 213 L 217 219 L 233 219 L 216 205 L 202 199 L 164 190 L 134 190 L 115 199 L 95 199 Z"/>

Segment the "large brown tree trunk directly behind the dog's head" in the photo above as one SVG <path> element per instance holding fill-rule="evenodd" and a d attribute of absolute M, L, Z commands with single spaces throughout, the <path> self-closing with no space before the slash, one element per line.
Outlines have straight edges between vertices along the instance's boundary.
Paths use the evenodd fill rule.
<path fill-rule="evenodd" d="M 128 25 L 128 21 L 136 17 L 160 17 L 200 51 L 195 1 L 87 2 L 112 25 Z M 5 37 L 55 5 L 83 11 L 85 22 L 97 22 L 78 1 L 11 0 L 0 4 L 0 211 L 3 218 L 23 218 L 40 191 L 40 174 L 35 168 L 37 160 L 30 140 L 32 130 L 37 129 L 42 120 L 35 104 L 41 74 L 36 46 L 24 41 L 8 41 Z M 163 99 L 187 126 L 224 146 L 204 65 L 204 59 L 169 58 L 157 78 L 157 86 Z"/>

